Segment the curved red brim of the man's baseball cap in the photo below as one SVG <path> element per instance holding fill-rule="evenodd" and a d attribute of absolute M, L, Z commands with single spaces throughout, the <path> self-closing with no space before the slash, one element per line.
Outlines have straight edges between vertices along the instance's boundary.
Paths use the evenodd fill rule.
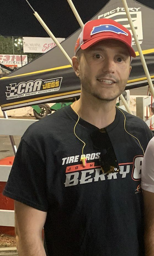
<path fill-rule="evenodd" d="M 122 40 L 122 39 L 120 39 L 119 37 L 116 37 L 116 36 L 99 36 L 99 37 L 92 38 L 91 40 L 82 44 L 81 49 L 85 50 L 88 47 L 90 47 L 92 45 L 95 45 L 97 42 L 100 42 L 102 40 L 107 40 L 107 39 L 114 39 L 114 40 L 118 40 L 118 41 L 123 42 L 128 47 L 130 56 L 136 58 L 136 54 L 135 54 L 135 51 L 134 51 L 133 47 L 131 47 L 126 41 L 124 41 L 124 40 Z"/>

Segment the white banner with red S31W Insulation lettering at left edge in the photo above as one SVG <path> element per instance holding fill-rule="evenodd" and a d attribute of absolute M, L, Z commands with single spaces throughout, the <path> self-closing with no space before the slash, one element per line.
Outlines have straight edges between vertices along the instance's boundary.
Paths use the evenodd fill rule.
<path fill-rule="evenodd" d="M 27 55 L 22 55 L 21 65 L 21 55 L 0 54 L 0 63 L 7 67 L 22 67 L 28 63 Z"/>

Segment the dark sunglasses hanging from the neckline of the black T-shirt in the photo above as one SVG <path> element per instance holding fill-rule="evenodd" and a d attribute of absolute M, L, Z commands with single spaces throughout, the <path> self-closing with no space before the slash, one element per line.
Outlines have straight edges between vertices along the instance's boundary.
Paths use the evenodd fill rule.
<path fill-rule="evenodd" d="M 101 152 L 99 164 L 103 173 L 119 172 L 119 164 L 116 159 L 114 148 L 105 128 L 97 130 L 91 134 L 93 146 Z"/>

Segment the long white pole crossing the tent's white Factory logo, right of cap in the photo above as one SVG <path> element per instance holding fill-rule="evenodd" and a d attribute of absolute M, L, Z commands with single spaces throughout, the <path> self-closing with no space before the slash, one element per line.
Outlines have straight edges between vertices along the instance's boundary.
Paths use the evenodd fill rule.
<path fill-rule="evenodd" d="M 144 72 L 145 72 L 145 75 L 147 77 L 147 80 L 148 80 L 148 84 L 149 84 L 149 87 L 150 87 L 150 91 L 154 97 L 154 87 L 153 87 L 153 83 L 151 81 L 151 77 L 150 77 L 150 74 L 149 74 L 149 70 L 148 70 L 148 67 L 146 65 L 146 62 L 145 62 L 145 59 L 144 59 L 144 55 L 142 53 L 142 49 L 141 49 L 141 46 L 139 44 L 139 40 L 138 40 L 138 36 L 136 35 L 136 31 L 135 31 L 135 28 L 134 28 L 134 24 L 133 24 L 133 21 L 131 19 L 131 16 L 130 16 L 130 13 L 129 13 L 129 9 L 128 9 L 128 5 L 127 5 L 127 2 L 126 0 L 122 0 L 122 3 L 124 5 L 124 8 L 125 8 L 125 11 L 126 11 L 126 14 L 127 14 L 127 18 L 129 20 L 129 24 L 130 24 L 130 27 L 131 27 L 131 31 L 133 33 L 133 36 L 134 36 L 134 39 L 135 39 L 135 42 L 136 42 L 136 46 L 138 48 L 138 51 L 139 51 L 139 55 L 140 55 L 140 59 L 141 59 L 141 63 L 143 65 L 143 68 L 144 68 Z"/>

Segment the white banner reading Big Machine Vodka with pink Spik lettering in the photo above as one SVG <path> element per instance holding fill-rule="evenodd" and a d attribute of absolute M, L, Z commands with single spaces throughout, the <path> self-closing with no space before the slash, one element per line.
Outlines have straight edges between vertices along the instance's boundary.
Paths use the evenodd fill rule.
<path fill-rule="evenodd" d="M 61 43 L 65 38 L 57 38 Z M 55 47 L 56 44 L 50 37 L 23 37 L 24 52 L 40 52 L 44 53 Z"/>

